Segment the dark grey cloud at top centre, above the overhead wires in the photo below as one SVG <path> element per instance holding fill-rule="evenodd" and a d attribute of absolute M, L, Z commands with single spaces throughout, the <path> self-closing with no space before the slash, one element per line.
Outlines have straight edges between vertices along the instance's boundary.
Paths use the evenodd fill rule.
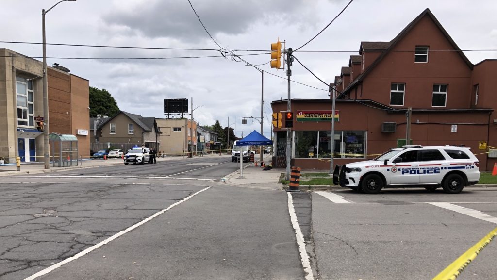
<path fill-rule="evenodd" d="M 212 36 L 242 34 L 258 20 L 281 23 L 307 5 L 304 0 L 218 0 L 214 4 L 192 0 L 193 7 Z M 148 1 L 134 8 L 119 8 L 104 15 L 112 30 L 135 30 L 147 37 L 170 37 L 184 41 L 209 39 L 186 0 Z M 294 16 L 293 19 L 296 19 Z"/>

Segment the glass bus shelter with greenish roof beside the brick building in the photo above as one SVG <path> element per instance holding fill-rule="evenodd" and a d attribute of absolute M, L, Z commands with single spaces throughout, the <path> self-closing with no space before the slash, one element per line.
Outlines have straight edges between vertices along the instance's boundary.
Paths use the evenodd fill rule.
<path fill-rule="evenodd" d="M 78 166 L 78 138 L 56 132 L 48 135 L 52 147 L 53 167 Z"/>

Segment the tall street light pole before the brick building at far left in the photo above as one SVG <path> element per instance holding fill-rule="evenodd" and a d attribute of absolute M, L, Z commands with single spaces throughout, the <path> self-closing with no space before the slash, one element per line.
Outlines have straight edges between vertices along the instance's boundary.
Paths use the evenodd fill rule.
<path fill-rule="evenodd" d="M 49 143 L 48 143 L 48 80 L 47 80 L 47 42 L 45 36 L 45 14 L 53 9 L 56 5 L 62 2 L 76 2 L 76 0 L 62 0 L 57 2 L 55 5 L 51 6 L 49 9 L 41 10 L 41 28 L 42 28 L 42 44 L 43 44 L 43 158 L 45 161 L 45 169 L 50 169 L 50 154 L 49 154 Z"/>

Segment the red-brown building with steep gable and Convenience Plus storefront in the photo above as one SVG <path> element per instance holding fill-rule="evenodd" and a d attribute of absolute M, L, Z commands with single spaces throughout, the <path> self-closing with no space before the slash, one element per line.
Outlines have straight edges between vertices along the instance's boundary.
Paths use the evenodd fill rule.
<path fill-rule="evenodd" d="M 311 118 L 312 111 L 331 113 L 330 99 L 291 100 L 292 166 L 329 170 L 331 139 L 340 165 L 397 147 L 406 142 L 412 107 L 413 144 L 466 145 L 481 170 L 491 170 L 497 158 L 479 147 L 482 141 L 497 147 L 497 60 L 473 65 L 429 9 L 389 42 L 361 42 L 358 54 L 331 85 L 339 112 L 333 137 L 331 115 Z M 273 112 L 286 106 L 287 100 L 272 102 Z M 286 131 L 274 131 L 278 165 L 285 162 Z"/>

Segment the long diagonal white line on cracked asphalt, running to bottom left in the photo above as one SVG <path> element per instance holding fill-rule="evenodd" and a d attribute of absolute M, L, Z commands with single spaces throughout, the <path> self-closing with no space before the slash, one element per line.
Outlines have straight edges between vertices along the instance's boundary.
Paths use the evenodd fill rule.
<path fill-rule="evenodd" d="M 57 264 L 55 264 L 55 265 L 53 265 L 53 266 L 50 266 L 50 267 L 48 267 L 48 268 L 46 268 L 46 269 L 44 269 L 44 270 L 42 270 L 42 271 L 40 271 L 40 272 L 37 272 L 37 273 L 35 273 L 35 274 L 31 275 L 30 277 L 25 278 L 24 280 L 33 280 L 33 279 L 35 279 L 35 278 L 38 278 L 38 277 L 40 277 L 40 276 L 43 276 L 43 275 L 45 275 L 45 274 L 47 274 L 47 273 L 49 273 L 49 272 L 53 271 L 53 270 L 55 270 L 55 269 L 58 269 L 58 268 L 60 268 L 61 266 L 65 265 L 65 264 L 67 264 L 67 263 L 69 263 L 69 262 L 71 262 L 71 261 L 74 261 L 74 260 L 76 260 L 76 259 L 79 259 L 80 257 L 83 257 L 84 255 L 88 254 L 89 252 L 91 252 L 91 251 L 93 251 L 93 250 L 95 250 L 95 249 L 98 249 L 98 248 L 102 247 L 103 245 L 105 245 L 105 244 L 109 243 L 110 241 L 112 241 L 112 240 L 114 240 L 114 239 L 116 239 L 116 238 L 118 238 L 118 237 L 120 237 L 120 236 L 124 235 L 125 233 L 128 233 L 128 232 L 132 231 L 133 229 L 135 229 L 135 228 L 137 228 L 137 227 L 139 227 L 139 226 L 143 225 L 144 223 L 146 223 L 146 222 L 148 222 L 148 221 L 150 221 L 150 220 L 152 220 L 152 219 L 156 218 L 157 216 L 161 215 L 162 213 L 166 212 L 167 210 L 171 209 L 172 207 L 174 207 L 174 206 L 176 206 L 176 205 L 178 205 L 178 204 L 181 204 L 181 203 L 185 202 L 186 200 L 188 200 L 188 199 L 192 198 L 193 196 L 195 196 L 195 195 L 199 194 L 200 192 L 202 192 L 202 191 L 204 191 L 204 190 L 207 190 L 207 189 L 209 189 L 209 188 L 210 188 L 210 187 L 203 188 L 203 189 L 201 189 L 201 190 L 199 190 L 199 191 L 197 191 L 197 192 L 195 192 L 195 193 L 193 193 L 193 194 L 191 194 L 191 195 L 189 195 L 189 196 L 187 196 L 187 197 L 185 197 L 185 198 L 183 198 L 183 199 L 179 200 L 178 202 L 175 202 L 175 203 L 171 204 L 171 205 L 170 205 L 169 207 L 167 207 L 166 209 L 163 209 L 163 210 L 161 210 L 161 211 L 159 211 L 159 212 L 155 213 L 154 215 L 152 215 L 152 216 L 150 216 L 150 217 L 148 217 L 148 218 L 146 218 L 146 219 L 144 219 L 144 220 L 142 220 L 142 221 L 140 221 L 140 222 L 138 222 L 138 223 L 136 223 L 136 224 L 134 224 L 134 225 L 132 225 L 132 226 L 128 227 L 127 229 L 125 229 L 125 230 L 123 230 L 123 231 L 121 231 L 121 232 L 116 233 L 115 235 L 113 235 L 113 236 L 111 236 L 111 237 L 109 237 L 109 238 L 105 239 L 104 241 L 102 241 L 102 242 L 100 242 L 100 243 L 98 243 L 98 244 L 95 244 L 95 245 L 91 246 L 90 248 L 88 248 L 88 249 L 86 249 L 86 250 L 84 250 L 84 251 L 82 251 L 82 252 L 80 252 L 80 253 L 78 253 L 78 254 L 74 255 L 73 257 L 71 257 L 71 258 L 67 258 L 67 259 L 65 259 L 65 260 L 63 260 L 63 261 L 61 261 L 61 262 L 59 262 L 59 263 L 57 263 Z"/>

